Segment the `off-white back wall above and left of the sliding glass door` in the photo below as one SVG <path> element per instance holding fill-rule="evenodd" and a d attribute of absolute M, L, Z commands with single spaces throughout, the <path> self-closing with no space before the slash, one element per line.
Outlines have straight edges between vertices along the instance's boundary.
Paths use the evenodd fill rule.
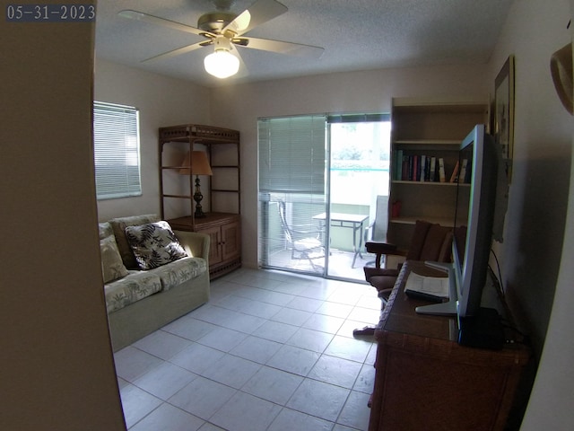
<path fill-rule="evenodd" d="M 488 100 L 486 66 L 437 66 L 318 75 L 213 89 L 214 126 L 241 132 L 243 262 L 257 268 L 257 118 L 390 112 L 393 97 Z"/>

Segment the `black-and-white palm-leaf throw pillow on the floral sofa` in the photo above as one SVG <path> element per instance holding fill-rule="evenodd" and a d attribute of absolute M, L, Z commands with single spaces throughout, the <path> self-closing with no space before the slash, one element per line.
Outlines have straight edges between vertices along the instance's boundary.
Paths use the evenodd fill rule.
<path fill-rule="evenodd" d="M 170 224 L 165 221 L 126 226 L 126 238 L 142 269 L 158 268 L 187 256 Z"/>

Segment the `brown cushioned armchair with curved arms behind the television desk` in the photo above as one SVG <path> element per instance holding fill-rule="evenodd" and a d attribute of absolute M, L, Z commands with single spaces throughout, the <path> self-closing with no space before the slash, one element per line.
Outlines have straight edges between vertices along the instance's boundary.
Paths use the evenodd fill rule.
<path fill-rule="evenodd" d="M 464 228 L 457 228 L 457 235 L 461 229 Z M 408 251 L 398 250 L 396 245 L 387 242 L 367 242 L 365 244 L 367 251 L 375 253 L 376 260 L 375 268 L 363 268 L 365 278 L 371 286 L 378 290 L 378 297 L 383 303 L 386 303 L 395 286 L 402 263 L 399 263 L 397 268 L 381 268 L 380 262 L 383 256 L 395 255 L 401 256 L 405 260 L 450 262 L 452 238 L 453 229 L 451 227 L 417 220 Z M 353 330 L 352 333 L 353 335 L 372 335 L 374 331 L 374 327 L 365 327 L 360 330 Z"/>

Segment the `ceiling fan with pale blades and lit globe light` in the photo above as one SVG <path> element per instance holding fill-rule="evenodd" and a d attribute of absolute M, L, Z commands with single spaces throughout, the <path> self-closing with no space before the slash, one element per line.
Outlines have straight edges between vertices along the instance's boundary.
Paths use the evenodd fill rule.
<path fill-rule="evenodd" d="M 218 78 L 227 78 L 237 74 L 239 71 L 239 64 L 242 61 L 239 56 L 239 50 L 235 49 L 235 47 L 254 48 L 302 57 L 318 58 L 323 54 L 324 49 L 319 47 L 243 36 L 258 25 L 287 12 L 287 7 L 284 4 L 276 0 L 257 0 L 248 9 L 237 14 L 230 12 L 230 6 L 233 3 L 235 3 L 235 0 L 213 0 L 217 10 L 201 15 L 197 20 L 197 28 L 132 10 L 121 11 L 118 15 L 123 18 L 150 22 L 203 37 L 205 39 L 203 41 L 173 49 L 143 61 L 164 59 L 186 54 L 198 48 L 213 47 L 214 52 L 204 58 L 204 67 L 207 73 Z M 235 51 L 235 55 L 231 54 L 231 51 Z"/>

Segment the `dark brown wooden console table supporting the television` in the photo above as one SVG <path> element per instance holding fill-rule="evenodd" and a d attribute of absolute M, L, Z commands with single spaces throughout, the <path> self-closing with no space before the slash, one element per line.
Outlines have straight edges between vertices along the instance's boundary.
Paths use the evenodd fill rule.
<path fill-rule="evenodd" d="M 528 349 L 485 350 L 457 344 L 457 319 L 414 312 L 404 295 L 411 270 L 444 272 L 408 261 L 375 331 L 378 342 L 369 430 L 502 430 Z"/>

